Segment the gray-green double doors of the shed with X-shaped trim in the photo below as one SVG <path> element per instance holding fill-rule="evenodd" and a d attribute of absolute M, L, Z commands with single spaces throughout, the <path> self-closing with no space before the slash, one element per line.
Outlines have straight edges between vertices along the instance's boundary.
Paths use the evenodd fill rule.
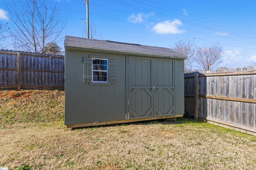
<path fill-rule="evenodd" d="M 128 57 L 128 119 L 174 115 L 174 60 Z"/>

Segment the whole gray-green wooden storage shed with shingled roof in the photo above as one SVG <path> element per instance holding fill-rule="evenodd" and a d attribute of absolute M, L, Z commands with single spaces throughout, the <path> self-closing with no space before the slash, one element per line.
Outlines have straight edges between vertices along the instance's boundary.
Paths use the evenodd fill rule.
<path fill-rule="evenodd" d="M 168 48 L 66 36 L 65 125 L 182 117 L 184 59 Z"/>

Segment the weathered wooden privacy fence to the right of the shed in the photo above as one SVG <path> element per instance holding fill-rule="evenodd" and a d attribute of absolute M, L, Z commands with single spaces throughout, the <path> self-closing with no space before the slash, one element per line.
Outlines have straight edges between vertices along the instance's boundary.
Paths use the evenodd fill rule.
<path fill-rule="evenodd" d="M 256 67 L 184 75 L 185 113 L 256 135 Z"/>

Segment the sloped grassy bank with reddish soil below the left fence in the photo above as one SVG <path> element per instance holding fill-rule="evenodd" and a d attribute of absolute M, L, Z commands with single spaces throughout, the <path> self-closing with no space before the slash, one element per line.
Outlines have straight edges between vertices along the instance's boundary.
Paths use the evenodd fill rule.
<path fill-rule="evenodd" d="M 0 90 L 0 128 L 64 119 L 64 91 Z"/>

